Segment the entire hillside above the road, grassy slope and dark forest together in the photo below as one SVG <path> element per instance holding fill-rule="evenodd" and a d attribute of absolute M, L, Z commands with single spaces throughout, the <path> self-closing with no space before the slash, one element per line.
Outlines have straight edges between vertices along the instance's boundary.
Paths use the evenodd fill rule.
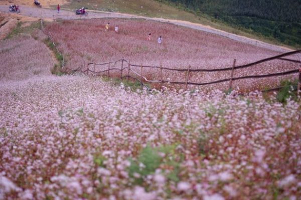
<path fill-rule="evenodd" d="M 34 7 L 31 0 L 0 1 Z M 41 0 L 43 7 L 131 13 L 148 17 L 186 20 L 272 44 L 300 47 L 300 2 L 227 0 Z M 293 10 L 293 11 L 288 11 Z M 288 14 L 287 14 L 288 13 Z"/>

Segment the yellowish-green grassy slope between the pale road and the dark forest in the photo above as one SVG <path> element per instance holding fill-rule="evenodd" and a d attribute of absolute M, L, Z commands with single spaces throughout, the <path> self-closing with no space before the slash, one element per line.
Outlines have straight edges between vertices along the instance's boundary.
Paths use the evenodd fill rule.
<path fill-rule="evenodd" d="M 259 39 L 268 43 L 283 45 L 276 39 L 271 37 L 264 37 L 255 33 L 251 30 L 246 30 L 243 28 L 231 27 L 225 23 L 216 20 L 206 14 L 201 16 L 195 15 L 194 13 L 184 11 L 184 8 L 176 8 L 164 3 L 160 3 L 155 0 L 85 0 L 85 1 L 70 1 L 64 5 L 67 8 L 78 8 L 85 6 L 89 9 L 102 10 L 102 11 L 115 11 L 123 13 L 131 13 L 136 15 L 143 15 L 149 17 L 163 17 L 170 19 L 186 20 L 195 23 L 201 23 L 204 25 L 210 25 L 214 28 L 221 29 L 227 32 L 247 36 L 254 39 Z M 141 7 L 142 6 L 142 7 Z M 292 46 L 284 45 L 290 48 Z"/>

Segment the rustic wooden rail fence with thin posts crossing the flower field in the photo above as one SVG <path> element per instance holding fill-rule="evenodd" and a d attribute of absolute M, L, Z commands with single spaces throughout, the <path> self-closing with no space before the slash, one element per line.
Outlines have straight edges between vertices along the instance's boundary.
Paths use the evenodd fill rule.
<path fill-rule="evenodd" d="M 162 65 L 160 66 L 148 66 L 148 65 L 138 65 L 138 64 L 131 64 L 129 61 L 125 60 L 125 59 L 119 59 L 116 61 L 112 61 L 112 62 L 105 62 L 105 63 L 96 63 L 94 62 L 90 62 L 87 64 L 87 67 L 85 70 L 82 70 L 81 67 L 78 69 L 75 69 L 73 71 L 81 71 L 81 72 L 86 72 L 87 74 L 89 73 L 93 73 L 95 74 L 99 74 L 99 73 L 107 73 L 108 76 L 110 76 L 110 71 L 113 70 L 117 70 L 120 72 L 120 78 L 132 78 L 135 79 L 137 81 L 140 81 L 142 85 L 143 82 L 149 82 L 149 83 L 170 83 L 170 84 L 184 84 L 185 85 L 185 89 L 187 89 L 187 85 L 208 85 L 208 84 L 215 84 L 215 83 L 220 83 L 220 82 L 225 82 L 225 81 L 229 81 L 229 89 L 232 88 L 232 82 L 234 80 L 240 80 L 240 79 L 248 79 L 248 78 L 263 78 L 263 77 L 272 77 L 272 76 L 283 76 L 283 75 L 288 75 L 288 74 L 293 74 L 293 73 L 299 73 L 299 78 L 298 78 L 298 91 L 300 90 L 300 85 L 301 85 L 301 59 L 300 60 L 294 60 L 294 59 L 289 59 L 289 58 L 283 58 L 284 56 L 288 56 L 288 55 L 293 55 L 293 54 L 297 54 L 297 53 L 301 53 L 301 49 L 299 50 L 295 50 L 295 51 L 290 51 L 290 52 L 286 52 L 286 53 L 282 53 L 280 55 L 276 55 L 276 56 L 272 56 L 272 57 L 268 57 L 268 58 L 264 58 L 255 62 L 251 62 L 248 64 L 243 64 L 243 65 L 238 65 L 236 66 L 236 60 L 234 59 L 233 61 L 233 65 L 230 67 L 225 67 L 225 68 L 214 68 L 214 69 L 191 69 L 191 66 L 189 65 L 187 68 L 182 68 L 182 69 L 177 69 L 177 68 L 169 68 L 169 67 L 163 67 Z M 276 73 L 269 73 L 269 74 L 263 74 L 263 75 L 246 75 L 246 76 L 239 76 L 239 77 L 233 77 L 233 73 L 234 70 L 236 69 L 242 69 L 242 68 L 247 68 L 247 67 L 251 67 L 254 66 L 256 64 L 259 63 L 263 63 L 266 61 L 270 61 L 270 60 L 274 60 L 274 59 L 280 59 L 280 60 L 284 60 L 284 61 L 289 61 L 289 62 L 293 62 L 296 63 L 299 66 L 296 66 L 296 69 L 293 70 L 287 70 L 287 71 L 283 71 L 283 72 L 276 72 Z M 116 64 L 117 62 L 121 63 L 120 68 L 116 68 L 116 67 L 110 67 L 112 64 Z M 96 71 L 96 66 L 100 66 L 100 65 L 107 65 L 107 69 L 104 70 L 100 70 L 100 71 Z M 138 73 L 138 68 L 140 68 L 140 73 Z M 144 75 L 143 75 L 143 68 L 158 68 L 160 69 L 160 79 L 159 80 L 149 80 L 147 79 Z M 164 70 L 170 70 L 170 71 L 179 71 L 179 72 L 186 72 L 186 77 L 185 77 L 185 81 L 169 81 L 169 80 L 164 80 L 163 78 L 163 69 Z M 124 73 L 124 71 L 126 70 L 126 72 Z M 211 82 L 191 82 L 189 81 L 189 74 L 192 72 L 213 72 L 213 71 L 228 71 L 231 70 L 231 75 L 228 78 L 224 78 L 224 79 L 219 79 L 219 80 L 215 80 L 215 81 L 211 81 Z M 134 77 L 132 75 L 130 75 L 130 71 L 132 73 L 134 73 L 137 77 Z M 277 87 L 277 88 L 272 88 L 266 91 L 271 91 L 271 90 L 276 90 L 279 89 L 281 87 Z"/>

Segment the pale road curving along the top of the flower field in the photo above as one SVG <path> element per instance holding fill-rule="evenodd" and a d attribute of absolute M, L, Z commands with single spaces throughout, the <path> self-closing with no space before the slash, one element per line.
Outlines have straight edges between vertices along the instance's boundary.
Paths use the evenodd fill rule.
<path fill-rule="evenodd" d="M 30 17 L 38 17 L 38 18 L 44 18 L 47 20 L 53 20 L 57 18 L 63 18 L 63 19 L 79 19 L 79 18 L 105 18 L 105 17 L 113 17 L 113 18 L 142 18 L 147 20 L 156 20 L 161 22 L 169 22 L 176 25 L 181 25 L 189 28 L 194 28 L 198 30 L 202 30 L 205 32 L 210 32 L 213 34 L 221 35 L 236 41 L 248 43 L 251 45 L 256 45 L 258 47 L 267 48 L 279 52 L 286 52 L 290 51 L 292 49 L 283 47 L 283 46 L 277 46 L 272 45 L 269 43 L 265 43 L 256 39 L 251 39 L 248 37 L 236 35 L 233 33 L 225 32 L 222 30 L 218 30 L 215 28 L 212 28 L 210 26 L 205 26 L 199 23 L 192 23 L 189 21 L 181 21 L 181 20 L 174 20 L 174 19 L 164 19 L 164 18 L 151 18 L 151 17 L 144 17 L 144 16 L 137 16 L 132 14 L 124 14 L 124 13 L 118 13 L 118 12 L 103 12 L 103 11 L 96 11 L 96 10 L 88 10 L 89 14 L 87 16 L 79 16 L 74 13 L 72 10 L 61 10 L 61 12 L 58 14 L 55 9 L 50 8 L 37 8 L 37 7 L 28 7 L 28 6 L 20 6 L 21 13 L 20 15 L 26 15 Z M 7 5 L 0 5 L 0 13 L 8 13 L 8 6 Z"/>

